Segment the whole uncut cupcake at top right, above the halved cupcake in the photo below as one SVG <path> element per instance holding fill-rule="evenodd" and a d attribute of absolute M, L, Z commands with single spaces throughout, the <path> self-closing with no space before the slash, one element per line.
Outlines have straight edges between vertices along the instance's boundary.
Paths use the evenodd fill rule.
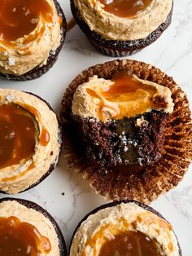
<path fill-rule="evenodd" d="M 141 51 L 172 21 L 172 0 L 71 0 L 71 8 L 89 42 L 113 57 Z"/>

